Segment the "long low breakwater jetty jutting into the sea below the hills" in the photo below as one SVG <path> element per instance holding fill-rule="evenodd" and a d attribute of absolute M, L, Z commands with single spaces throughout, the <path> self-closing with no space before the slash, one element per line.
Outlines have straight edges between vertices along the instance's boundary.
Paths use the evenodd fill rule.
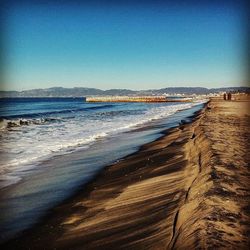
<path fill-rule="evenodd" d="M 86 102 L 187 102 L 187 99 L 172 99 L 166 96 L 98 96 L 86 97 Z"/>

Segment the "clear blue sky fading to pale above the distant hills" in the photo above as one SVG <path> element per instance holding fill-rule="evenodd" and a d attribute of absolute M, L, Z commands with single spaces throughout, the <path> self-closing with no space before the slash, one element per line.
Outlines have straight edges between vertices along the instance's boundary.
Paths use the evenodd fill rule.
<path fill-rule="evenodd" d="M 244 85 L 240 5 L 11 4 L 4 88 Z"/>

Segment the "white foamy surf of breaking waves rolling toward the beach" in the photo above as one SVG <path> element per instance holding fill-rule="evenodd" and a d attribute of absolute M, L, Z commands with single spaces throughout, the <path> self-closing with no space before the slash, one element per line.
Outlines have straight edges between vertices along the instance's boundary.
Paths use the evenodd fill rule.
<path fill-rule="evenodd" d="M 126 115 L 105 116 L 104 112 L 101 114 L 101 119 L 98 116 L 100 113 L 95 113 L 89 117 L 79 115 L 65 121 L 60 117 L 57 120 L 55 117 L 52 123 L 46 120 L 37 122 L 25 120 L 26 122 L 21 124 L 24 126 L 19 126 L 20 120 L 15 121 L 17 126 L 15 124 L 11 126 L 12 131 L 1 134 L 2 155 L 8 156 L 8 159 L 0 160 L 1 186 L 18 181 L 20 176 L 25 175 L 25 171 L 51 156 L 88 147 L 98 139 L 129 131 L 200 103 L 147 105 L 143 112 L 131 115 L 126 113 Z M 4 124 L 2 127 L 6 129 L 9 122 L 2 121 Z"/>

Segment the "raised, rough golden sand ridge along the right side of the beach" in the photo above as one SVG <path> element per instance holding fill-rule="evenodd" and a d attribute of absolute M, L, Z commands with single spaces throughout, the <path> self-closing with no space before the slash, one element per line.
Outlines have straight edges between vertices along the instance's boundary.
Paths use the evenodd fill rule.
<path fill-rule="evenodd" d="M 190 148 L 198 147 L 200 172 L 180 208 L 171 248 L 249 249 L 248 105 L 214 99 L 200 119 L 197 146 Z"/>

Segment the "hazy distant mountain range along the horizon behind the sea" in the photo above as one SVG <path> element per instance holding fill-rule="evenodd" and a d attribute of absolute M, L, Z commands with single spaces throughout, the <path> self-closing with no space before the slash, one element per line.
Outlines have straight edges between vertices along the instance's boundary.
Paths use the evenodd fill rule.
<path fill-rule="evenodd" d="M 47 89 L 31 89 L 24 91 L 0 91 L 0 97 L 86 97 L 106 95 L 163 95 L 163 94 L 214 94 L 219 92 L 250 92 L 249 87 L 231 88 L 201 88 L 201 87 L 172 87 L 150 90 L 109 89 L 101 90 L 95 88 L 62 88 L 54 87 Z"/>

